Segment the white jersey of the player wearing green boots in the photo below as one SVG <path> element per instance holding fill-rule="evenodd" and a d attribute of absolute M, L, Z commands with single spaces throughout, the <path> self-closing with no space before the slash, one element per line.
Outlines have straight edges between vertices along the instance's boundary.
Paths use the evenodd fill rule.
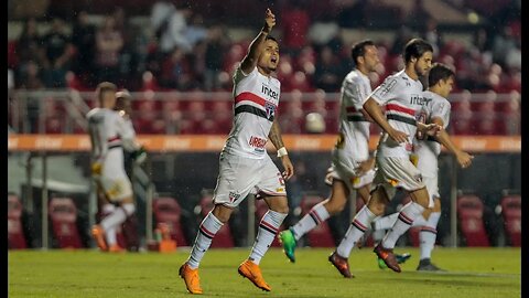
<path fill-rule="evenodd" d="M 364 117 L 363 102 L 371 93 L 369 78 L 360 71 L 354 70 L 348 73 L 342 84 L 341 111 L 339 111 L 339 139 L 333 149 L 344 151 L 349 159 L 356 161 L 369 158 L 369 125 Z"/>

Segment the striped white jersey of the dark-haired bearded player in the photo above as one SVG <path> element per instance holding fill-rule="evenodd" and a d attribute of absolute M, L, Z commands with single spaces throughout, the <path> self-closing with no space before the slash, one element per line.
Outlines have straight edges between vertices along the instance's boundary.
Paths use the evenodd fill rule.
<path fill-rule="evenodd" d="M 388 76 L 370 97 L 379 105 L 386 106 L 386 118 L 389 125 L 409 136 L 408 141 L 398 143 L 384 132 L 378 143 L 377 155 L 408 158 L 417 132 L 417 120 L 424 105 L 422 83 L 412 79 L 402 70 Z"/>

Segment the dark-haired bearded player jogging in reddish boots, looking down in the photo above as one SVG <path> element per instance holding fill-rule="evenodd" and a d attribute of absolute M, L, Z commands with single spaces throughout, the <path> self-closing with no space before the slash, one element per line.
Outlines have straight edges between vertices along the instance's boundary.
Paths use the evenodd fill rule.
<path fill-rule="evenodd" d="M 410 227 L 413 220 L 429 205 L 428 191 L 421 172 L 411 163 L 410 153 L 415 131 L 435 135 L 440 127 L 417 120 L 423 106 L 420 76 L 432 65 L 433 47 L 428 42 L 413 39 L 404 47 L 404 70 L 388 76 L 370 96 L 364 100 L 364 110 L 384 130 L 377 148 L 377 170 L 369 202 L 355 215 L 353 223 L 331 255 L 333 265 L 346 276 L 349 272 L 347 258 L 355 244 L 361 238 L 371 221 L 384 213 L 386 204 L 395 195 L 397 187 L 410 193 L 412 203 L 400 212 L 399 221 L 375 247 L 375 253 L 396 272 L 400 266 L 392 252 L 397 240 Z M 379 105 L 386 106 L 386 116 Z"/>

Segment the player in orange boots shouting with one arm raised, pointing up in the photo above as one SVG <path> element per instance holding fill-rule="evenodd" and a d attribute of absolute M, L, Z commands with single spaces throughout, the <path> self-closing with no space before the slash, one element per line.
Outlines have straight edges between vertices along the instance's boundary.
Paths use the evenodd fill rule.
<path fill-rule="evenodd" d="M 215 206 L 202 221 L 191 255 L 180 267 L 180 276 L 192 294 L 203 292 L 198 265 L 212 240 L 250 192 L 263 199 L 270 210 L 262 216 L 250 256 L 238 272 L 256 287 L 271 290 L 262 278 L 259 263 L 289 213 L 284 180 L 294 173 L 276 118 L 280 82 L 272 73 L 279 63 L 279 44 L 269 35 L 274 25 L 276 17 L 267 9 L 262 30 L 234 74 L 234 127 L 219 157 L 219 174 L 213 195 Z M 278 149 L 283 173 L 267 153 L 268 139 Z"/>

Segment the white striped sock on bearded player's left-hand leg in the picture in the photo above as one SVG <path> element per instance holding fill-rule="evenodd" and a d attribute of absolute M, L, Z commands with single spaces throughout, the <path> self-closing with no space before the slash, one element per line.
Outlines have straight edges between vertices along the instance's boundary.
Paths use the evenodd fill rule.
<path fill-rule="evenodd" d="M 367 207 L 367 205 L 364 205 L 360 211 L 358 211 L 358 213 L 353 219 L 349 228 L 345 233 L 345 236 L 342 238 L 338 247 L 336 247 L 336 253 L 341 257 L 349 257 L 350 249 L 355 247 L 356 243 L 366 233 L 369 224 L 375 217 L 376 215 L 373 214 L 373 212 Z"/>

